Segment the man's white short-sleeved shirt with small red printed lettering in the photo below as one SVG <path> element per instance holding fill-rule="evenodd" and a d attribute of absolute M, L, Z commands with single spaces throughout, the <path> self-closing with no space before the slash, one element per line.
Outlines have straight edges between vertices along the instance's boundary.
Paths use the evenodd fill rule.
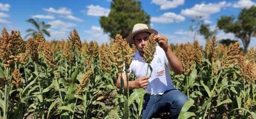
<path fill-rule="evenodd" d="M 140 56 L 139 51 L 135 51 L 135 56 L 130 65 L 130 73 L 133 72 L 137 78 L 146 76 L 148 64 Z M 151 77 L 148 79 L 148 86 L 145 88 L 151 94 L 163 94 L 165 91 L 174 89 L 169 73 L 169 62 L 165 52 L 157 46 L 154 59 L 151 62 L 153 69 Z M 148 68 L 148 75 L 151 73 Z"/>

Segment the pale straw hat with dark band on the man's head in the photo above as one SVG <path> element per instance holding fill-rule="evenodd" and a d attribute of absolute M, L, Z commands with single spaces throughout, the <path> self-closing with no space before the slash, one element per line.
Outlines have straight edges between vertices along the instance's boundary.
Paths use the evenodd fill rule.
<path fill-rule="evenodd" d="M 139 34 L 141 32 L 149 32 L 150 34 L 154 33 L 154 35 L 158 34 L 156 30 L 148 28 L 147 25 L 143 23 L 137 23 L 134 25 L 134 28 L 132 29 L 132 33 L 128 37 L 126 37 L 127 42 L 134 43 L 133 37 L 136 34 Z"/>

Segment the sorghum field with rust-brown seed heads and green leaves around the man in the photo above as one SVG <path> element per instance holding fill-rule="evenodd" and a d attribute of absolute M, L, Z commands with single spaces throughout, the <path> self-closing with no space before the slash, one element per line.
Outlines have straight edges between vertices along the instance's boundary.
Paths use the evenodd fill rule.
<path fill-rule="evenodd" d="M 245 54 L 239 42 L 226 46 L 215 36 L 204 50 L 196 40 L 169 48 L 184 68 L 181 75 L 170 71 L 172 81 L 189 97 L 179 119 L 256 119 L 256 49 Z M 67 40 L 49 42 L 41 34 L 24 41 L 19 31 L 3 28 L 0 118 L 140 119 L 147 92 L 115 87 L 135 50 L 118 34 L 99 45 L 81 43 L 76 29 Z"/>

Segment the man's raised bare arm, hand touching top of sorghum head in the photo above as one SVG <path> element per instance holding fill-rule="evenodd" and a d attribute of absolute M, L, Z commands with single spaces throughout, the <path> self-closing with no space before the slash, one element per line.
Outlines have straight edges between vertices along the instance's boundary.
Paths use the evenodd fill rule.
<path fill-rule="evenodd" d="M 154 39 L 158 42 L 159 46 L 163 48 L 163 51 L 166 54 L 166 57 L 169 62 L 169 67 L 176 74 L 182 74 L 183 65 L 180 59 L 169 49 L 167 37 L 157 34 L 154 36 Z"/>

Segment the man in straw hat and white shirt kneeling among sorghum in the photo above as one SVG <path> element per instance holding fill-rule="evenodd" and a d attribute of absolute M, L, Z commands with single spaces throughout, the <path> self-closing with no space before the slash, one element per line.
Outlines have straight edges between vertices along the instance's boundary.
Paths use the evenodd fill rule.
<path fill-rule="evenodd" d="M 150 64 L 153 69 L 151 77 L 146 77 L 148 64 L 143 60 L 143 48 L 152 33 L 154 33 L 154 40 L 158 42 L 159 46 L 157 46 L 154 59 Z M 126 40 L 129 43 L 134 43 L 137 47 L 129 68 L 130 74 L 133 72 L 137 79 L 128 82 L 129 89 L 144 88 L 151 93 L 144 95 L 142 119 L 149 119 L 157 112 L 169 112 L 170 119 L 177 119 L 181 108 L 188 99 L 172 84 L 169 69 L 176 74 L 182 74 L 183 66 L 180 59 L 168 48 L 167 38 L 158 34 L 156 30 L 148 28 L 147 25 L 139 23 L 134 25 L 132 34 Z M 116 82 L 117 88 L 121 87 L 120 77 L 119 75 Z M 125 80 L 124 87 L 127 89 L 125 73 L 122 74 L 122 77 Z"/>

